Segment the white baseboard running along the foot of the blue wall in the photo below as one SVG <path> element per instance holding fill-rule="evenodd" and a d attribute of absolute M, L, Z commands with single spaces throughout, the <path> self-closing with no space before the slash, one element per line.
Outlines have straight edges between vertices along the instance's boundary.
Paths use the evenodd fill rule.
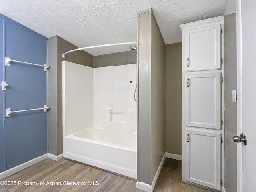
<path fill-rule="evenodd" d="M 44 155 L 39 156 L 37 158 L 34 158 L 34 159 L 32 159 L 32 160 L 30 160 L 28 162 L 25 162 L 25 163 L 23 163 L 21 165 L 18 165 L 18 166 L 14 167 L 14 168 L 11 168 L 11 169 L 9 169 L 7 171 L 4 171 L 4 172 L 0 173 L 0 179 L 6 178 L 6 177 L 8 177 L 8 176 L 10 176 L 10 175 L 12 175 L 12 174 L 14 174 L 16 172 L 19 172 L 22 169 L 25 169 L 25 168 L 33 165 L 33 164 L 36 164 L 36 163 L 44 160 L 46 158 L 48 158 L 48 154 L 44 154 Z"/>

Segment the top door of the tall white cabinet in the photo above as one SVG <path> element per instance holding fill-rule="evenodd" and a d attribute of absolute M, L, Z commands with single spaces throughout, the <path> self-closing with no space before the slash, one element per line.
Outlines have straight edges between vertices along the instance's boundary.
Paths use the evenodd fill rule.
<path fill-rule="evenodd" d="M 185 30 L 185 71 L 220 69 L 220 24 Z"/>

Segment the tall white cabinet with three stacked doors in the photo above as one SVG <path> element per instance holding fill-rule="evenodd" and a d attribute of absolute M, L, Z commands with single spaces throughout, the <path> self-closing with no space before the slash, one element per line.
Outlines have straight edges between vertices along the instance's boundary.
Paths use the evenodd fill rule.
<path fill-rule="evenodd" d="M 224 16 L 182 30 L 182 180 L 215 190 L 224 182 Z M 224 80 L 223 80 L 224 81 Z"/>

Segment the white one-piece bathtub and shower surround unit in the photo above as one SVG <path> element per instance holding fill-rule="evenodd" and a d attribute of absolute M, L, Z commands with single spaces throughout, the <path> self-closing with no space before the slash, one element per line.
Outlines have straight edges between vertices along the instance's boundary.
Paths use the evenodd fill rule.
<path fill-rule="evenodd" d="M 90 68 L 64 61 L 64 157 L 137 178 L 135 87 L 136 64 Z"/>

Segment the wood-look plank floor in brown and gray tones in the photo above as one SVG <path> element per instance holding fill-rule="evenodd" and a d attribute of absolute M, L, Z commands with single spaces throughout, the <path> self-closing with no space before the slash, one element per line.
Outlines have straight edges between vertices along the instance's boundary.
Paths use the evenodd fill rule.
<path fill-rule="evenodd" d="M 181 167 L 181 161 L 166 158 L 154 192 L 210 192 L 181 183 Z M 1 181 L 9 185 L 1 183 L 0 192 L 144 192 L 136 189 L 135 180 L 66 159 L 56 162 L 47 158 Z M 11 186 L 8 181 L 15 181 L 16 185 Z M 22 182 L 31 183 L 26 186 Z M 52 186 L 50 182 L 58 185 Z"/>

